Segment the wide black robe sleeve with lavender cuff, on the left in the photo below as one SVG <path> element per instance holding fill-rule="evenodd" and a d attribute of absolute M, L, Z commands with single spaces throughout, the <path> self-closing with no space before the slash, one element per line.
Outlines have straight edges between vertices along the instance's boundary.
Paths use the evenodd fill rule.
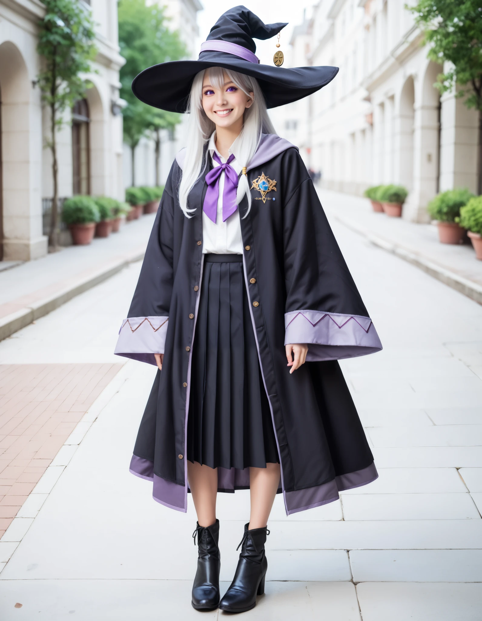
<path fill-rule="evenodd" d="M 164 353 L 173 273 L 174 206 L 173 165 L 134 292 L 128 315 L 122 321 L 114 353 L 156 364 L 154 353 Z"/>

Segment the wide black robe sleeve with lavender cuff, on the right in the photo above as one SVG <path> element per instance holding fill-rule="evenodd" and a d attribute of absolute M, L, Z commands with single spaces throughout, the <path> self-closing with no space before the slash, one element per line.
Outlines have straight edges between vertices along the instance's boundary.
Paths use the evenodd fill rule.
<path fill-rule="evenodd" d="M 298 185 L 283 206 L 285 345 L 307 343 L 306 360 L 340 360 L 382 349 L 357 286 L 299 155 Z M 305 178 L 306 177 L 306 178 Z M 293 178 L 293 176 L 292 176 Z"/>

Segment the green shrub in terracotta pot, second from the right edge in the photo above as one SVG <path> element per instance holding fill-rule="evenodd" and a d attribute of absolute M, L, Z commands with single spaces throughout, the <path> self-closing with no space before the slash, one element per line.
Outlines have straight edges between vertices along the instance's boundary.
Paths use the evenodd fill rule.
<path fill-rule="evenodd" d="M 427 209 L 432 219 L 437 220 L 441 243 L 462 242 L 465 230 L 455 221 L 460 216 L 460 207 L 470 201 L 473 194 L 466 188 L 454 188 L 437 194 Z"/>

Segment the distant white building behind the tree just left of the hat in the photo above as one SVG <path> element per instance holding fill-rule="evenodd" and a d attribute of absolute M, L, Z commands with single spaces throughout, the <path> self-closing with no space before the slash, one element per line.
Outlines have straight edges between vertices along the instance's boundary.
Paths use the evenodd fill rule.
<path fill-rule="evenodd" d="M 199 0 L 148 0 L 147 4 L 159 4 L 166 6 L 166 16 L 171 19 L 169 27 L 177 30 L 184 42 L 189 58 L 197 58 L 197 12 L 202 11 Z M 174 131 L 161 130 L 161 151 L 159 156 L 158 178 L 161 184 L 165 183 L 172 161 L 176 153 L 184 147 L 186 124 L 185 119 L 176 125 Z M 124 144 L 124 187 L 132 186 L 132 152 L 128 145 Z M 155 143 L 149 137 L 141 138 L 135 150 L 135 185 L 153 186 L 156 182 L 156 153 Z"/>

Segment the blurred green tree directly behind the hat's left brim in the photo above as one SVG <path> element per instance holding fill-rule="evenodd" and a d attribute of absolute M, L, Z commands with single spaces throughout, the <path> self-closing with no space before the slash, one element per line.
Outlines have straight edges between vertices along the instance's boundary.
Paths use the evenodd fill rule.
<path fill-rule="evenodd" d="M 146 67 L 185 57 L 184 44 L 177 32 L 167 28 L 164 8 L 147 7 L 145 0 L 120 0 L 118 5 L 119 46 L 126 63 L 120 70 L 120 96 L 127 101 L 123 109 L 124 140 L 132 153 L 132 184 L 135 185 L 135 148 L 145 135 L 156 141 L 156 183 L 158 184 L 161 129 L 170 129 L 181 120 L 178 114 L 148 106 L 132 93 L 131 84 Z"/>

